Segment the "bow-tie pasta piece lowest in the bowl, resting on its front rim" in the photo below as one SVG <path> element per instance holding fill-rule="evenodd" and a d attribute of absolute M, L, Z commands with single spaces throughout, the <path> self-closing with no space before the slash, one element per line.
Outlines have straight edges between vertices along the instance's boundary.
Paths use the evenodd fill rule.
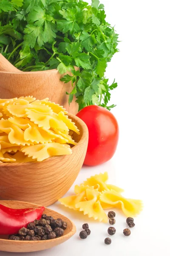
<path fill-rule="evenodd" d="M 59 143 L 46 143 L 40 145 L 31 145 L 23 147 L 22 152 L 28 157 L 32 157 L 33 159 L 37 159 L 38 162 L 41 162 L 48 157 L 53 156 L 61 156 L 66 154 L 72 154 L 71 148 L 67 144 L 59 144 Z"/>

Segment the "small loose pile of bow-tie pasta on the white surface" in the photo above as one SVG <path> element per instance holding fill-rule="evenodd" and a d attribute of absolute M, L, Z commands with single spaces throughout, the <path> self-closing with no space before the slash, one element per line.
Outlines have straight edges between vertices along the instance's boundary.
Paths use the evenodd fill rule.
<path fill-rule="evenodd" d="M 126 216 L 135 216 L 142 211 L 142 201 L 126 199 L 124 191 L 117 186 L 107 184 L 108 173 L 91 176 L 81 185 L 74 187 L 76 195 L 59 199 L 65 207 L 83 212 L 95 220 L 107 222 L 104 209 L 120 208 Z"/>

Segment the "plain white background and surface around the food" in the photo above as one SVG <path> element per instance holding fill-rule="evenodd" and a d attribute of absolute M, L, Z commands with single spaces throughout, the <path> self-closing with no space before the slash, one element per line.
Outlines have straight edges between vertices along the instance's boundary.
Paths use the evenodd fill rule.
<path fill-rule="evenodd" d="M 125 216 L 116 211 L 116 234 L 105 245 L 109 224 L 89 221 L 82 214 L 51 206 L 74 221 L 77 233 L 51 250 L 20 256 L 168 256 L 170 255 L 170 19 L 168 0 L 101 0 L 107 20 L 119 34 L 120 52 L 108 65 L 110 83 L 119 84 L 111 104 L 119 122 L 115 156 L 97 167 L 83 167 L 75 184 L 108 171 L 109 183 L 125 189 L 125 196 L 142 199 L 143 212 L 135 218 L 131 236 L 122 235 Z M 74 185 L 67 195 L 74 191 Z M 91 236 L 79 239 L 84 222 Z M 12 253 L 0 252 L 0 256 Z"/>

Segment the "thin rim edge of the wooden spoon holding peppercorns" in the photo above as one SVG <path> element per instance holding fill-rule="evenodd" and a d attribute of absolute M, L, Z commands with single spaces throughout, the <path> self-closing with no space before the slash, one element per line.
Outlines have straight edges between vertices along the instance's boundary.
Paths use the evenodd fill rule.
<path fill-rule="evenodd" d="M 0 203 L 3 203 L 3 202 L 5 202 L 5 203 L 8 203 L 8 202 L 13 202 L 14 200 L 0 200 Z M 37 207 L 42 207 L 41 205 L 39 205 L 39 204 L 32 204 L 32 203 L 28 203 L 28 202 L 24 202 L 24 201 L 14 201 L 14 202 L 16 202 L 16 203 L 23 203 L 23 204 L 30 204 L 30 207 L 35 207 L 35 208 L 37 208 Z M 29 207 L 28 207 L 29 208 Z M 49 208 L 47 208 L 47 207 L 45 207 L 45 209 L 48 209 L 48 210 L 51 210 L 51 209 L 49 209 Z M 51 211 L 53 211 L 53 212 L 56 212 L 56 211 L 54 211 L 54 210 L 51 210 Z M 57 212 L 57 213 L 59 213 L 59 212 Z M 59 215 L 62 215 L 61 213 L 59 213 Z M 71 222 L 71 224 L 72 224 L 72 229 L 71 229 L 71 231 L 68 233 L 68 234 L 71 234 L 71 236 L 73 236 L 75 233 L 76 233 L 76 226 L 75 226 L 75 224 L 68 218 L 68 217 L 66 217 L 65 215 L 62 215 L 63 217 L 65 217 L 65 218 L 67 218 L 70 222 Z M 34 243 L 35 244 L 35 242 L 36 243 L 41 243 L 41 242 L 50 242 L 50 241 L 55 241 L 55 240 L 62 240 L 62 239 L 64 239 L 65 237 L 68 237 L 68 234 L 65 234 L 64 236 L 60 236 L 60 237 L 57 237 L 57 238 L 55 238 L 55 239 L 52 239 L 52 240 L 40 240 L 40 241 L 18 241 L 18 240 L 8 240 L 8 239 L 1 239 L 0 238 L 0 241 L 9 241 L 9 243 L 10 243 L 10 241 L 12 241 L 12 242 L 14 242 L 14 243 Z"/>

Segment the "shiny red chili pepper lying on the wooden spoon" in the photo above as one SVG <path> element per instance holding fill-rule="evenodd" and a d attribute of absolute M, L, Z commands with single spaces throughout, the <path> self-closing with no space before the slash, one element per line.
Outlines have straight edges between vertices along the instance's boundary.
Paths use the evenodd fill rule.
<path fill-rule="evenodd" d="M 45 207 L 11 209 L 0 204 L 0 235 L 17 234 L 20 228 L 41 218 Z"/>

